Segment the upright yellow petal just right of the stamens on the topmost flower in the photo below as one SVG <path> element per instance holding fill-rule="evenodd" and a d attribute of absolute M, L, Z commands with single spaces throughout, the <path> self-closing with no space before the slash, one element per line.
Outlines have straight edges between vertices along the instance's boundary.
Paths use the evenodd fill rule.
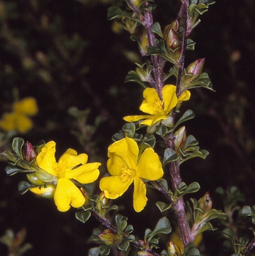
<path fill-rule="evenodd" d="M 162 89 L 164 112 L 168 114 L 177 105 L 176 86 L 167 84 Z"/>

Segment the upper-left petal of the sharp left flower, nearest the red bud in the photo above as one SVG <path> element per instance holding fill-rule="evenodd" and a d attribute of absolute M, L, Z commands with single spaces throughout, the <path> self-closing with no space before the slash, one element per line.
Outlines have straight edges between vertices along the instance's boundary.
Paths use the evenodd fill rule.
<path fill-rule="evenodd" d="M 51 175 L 57 176 L 55 167 L 56 167 L 56 159 L 55 159 L 55 151 L 56 151 L 56 143 L 54 141 L 48 142 L 43 148 L 42 151 L 38 154 L 36 161 L 38 166 L 45 170 L 47 173 Z"/>

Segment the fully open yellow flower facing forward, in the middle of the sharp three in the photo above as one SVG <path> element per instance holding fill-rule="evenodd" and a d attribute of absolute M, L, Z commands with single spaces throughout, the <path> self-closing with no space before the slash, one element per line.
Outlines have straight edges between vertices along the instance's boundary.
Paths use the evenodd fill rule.
<path fill-rule="evenodd" d="M 105 192 L 106 198 L 115 199 L 123 195 L 134 182 L 133 205 L 136 212 L 141 212 L 148 200 L 141 178 L 154 181 L 164 173 L 159 157 L 152 148 L 146 148 L 139 160 L 138 153 L 134 139 L 126 137 L 111 144 L 108 148 L 107 169 L 112 176 L 102 178 L 99 187 Z"/>

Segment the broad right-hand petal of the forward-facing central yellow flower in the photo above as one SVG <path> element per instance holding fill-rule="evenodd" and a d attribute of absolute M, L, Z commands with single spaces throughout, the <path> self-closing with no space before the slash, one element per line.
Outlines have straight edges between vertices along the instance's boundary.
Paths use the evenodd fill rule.
<path fill-rule="evenodd" d="M 136 175 L 139 177 L 155 181 L 163 176 L 161 162 L 157 153 L 152 148 L 146 148 L 139 159 L 136 167 Z"/>

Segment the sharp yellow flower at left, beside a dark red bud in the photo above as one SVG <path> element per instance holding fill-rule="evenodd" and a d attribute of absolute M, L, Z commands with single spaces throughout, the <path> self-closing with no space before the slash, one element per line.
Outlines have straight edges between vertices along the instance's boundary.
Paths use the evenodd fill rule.
<path fill-rule="evenodd" d="M 77 152 L 70 148 L 56 163 L 55 147 L 54 141 L 48 142 L 38 154 L 36 161 L 41 169 L 57 177 L 54 201 L 59 211 L 66 212 L 70 209 L 70 205 L 78 208 L 85 203 L 82 192 L 70 179 L 83 184 L 94 182 L 99 176 L 98 167 L 101 164 L 86 164 L 88 155 L 84 153 L 77 155 Z"/>

